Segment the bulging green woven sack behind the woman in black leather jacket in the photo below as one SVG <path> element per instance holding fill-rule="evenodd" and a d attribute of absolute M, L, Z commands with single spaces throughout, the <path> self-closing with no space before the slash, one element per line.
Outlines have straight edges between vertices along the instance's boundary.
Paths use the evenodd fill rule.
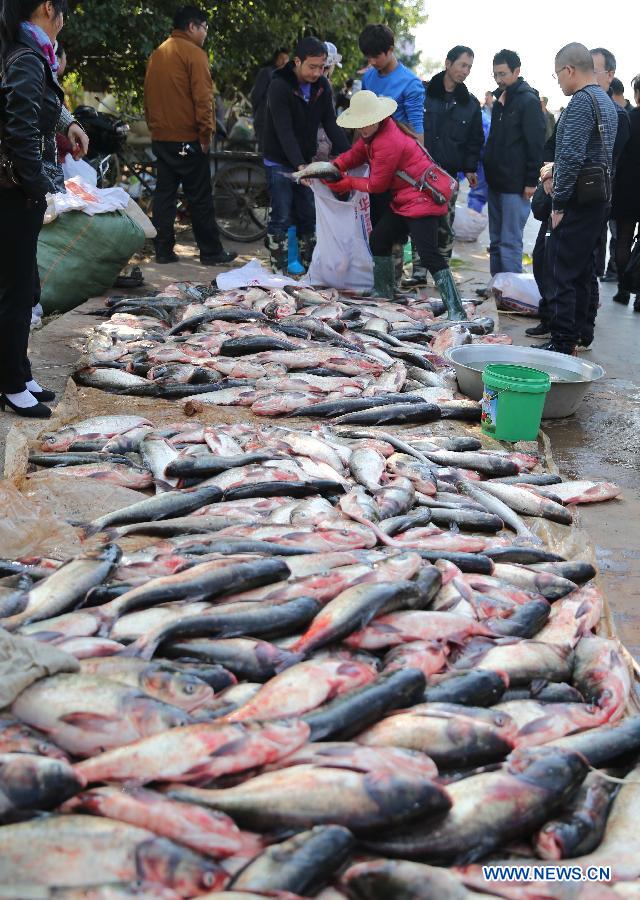
<path fill-rule="evenodd" d="M 144 241 L 140 226 L 120 211 L 87 216 L 73 210 L 44 225 L 38 268 L 45 313 L 67 312 L 104 294 Z"/>

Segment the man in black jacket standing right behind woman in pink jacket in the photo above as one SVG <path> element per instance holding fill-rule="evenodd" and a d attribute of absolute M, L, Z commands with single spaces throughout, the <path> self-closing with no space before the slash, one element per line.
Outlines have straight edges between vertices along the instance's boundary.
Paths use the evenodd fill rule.
<path fill-rule="evenodd" d="M 447 53 L 443 72 L 427 86 L 424 110 L 424 143 L 438 165 L 455 178 L 464 172 L 470 187 L 478 184 L 478 163 L 484 146 L 479 101 L 464 86 L 473 66 L 470 47 L 453 47 Z M 447 214 L 440 219 L 438 249 L 451 259 L 456 190 Z"/>

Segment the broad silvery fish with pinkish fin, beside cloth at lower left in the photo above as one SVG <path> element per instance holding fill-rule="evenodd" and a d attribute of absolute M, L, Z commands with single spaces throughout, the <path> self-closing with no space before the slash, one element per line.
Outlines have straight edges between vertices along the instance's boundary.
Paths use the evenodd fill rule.
<path fill-rule="evenodd" d="M 82 674 L 35 682 L 17 697 L 11 712 L 74 756 L 91 756 L 190 721 L 184 710 L 140 690 Z"/>

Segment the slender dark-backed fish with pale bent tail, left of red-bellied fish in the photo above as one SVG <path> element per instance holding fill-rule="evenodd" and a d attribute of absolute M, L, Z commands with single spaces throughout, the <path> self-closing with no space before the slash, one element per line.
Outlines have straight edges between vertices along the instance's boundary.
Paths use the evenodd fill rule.
<path fill-rule="evenodd" d="M 213 607 L 210 613 L 180 616 L 147 631 L 127 647 L 125 652 L 128 656 L 151 659 L 162 643 L 176 637 L 274 637 L 288 634 L 307 625 L 319 609 L 320 604 L 312 597 Z"/>

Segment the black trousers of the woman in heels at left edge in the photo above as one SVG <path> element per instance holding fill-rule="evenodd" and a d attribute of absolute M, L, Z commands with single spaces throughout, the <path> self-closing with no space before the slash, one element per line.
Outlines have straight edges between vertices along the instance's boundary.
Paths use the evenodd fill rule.
<path fill-rule="evenodd" d="M 19 394 L 31 380 L 27 350 L 38 235 L 47 204 L 0 190 L 0 393 Z"/>

